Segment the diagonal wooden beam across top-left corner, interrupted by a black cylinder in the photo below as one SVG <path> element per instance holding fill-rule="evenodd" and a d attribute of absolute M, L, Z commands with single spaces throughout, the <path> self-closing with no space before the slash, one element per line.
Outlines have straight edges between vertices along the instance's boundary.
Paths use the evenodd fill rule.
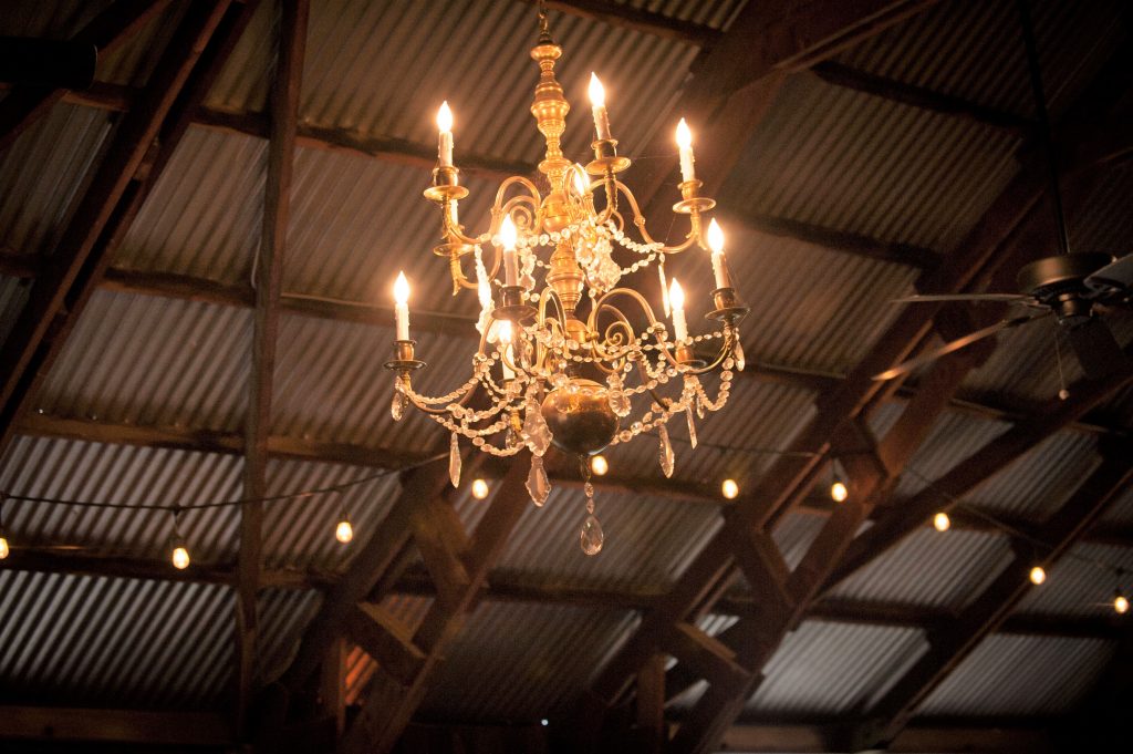
<path fill-rule="evenodd" d="M 168 0 L 117 0 L 79 29 L 71 42 L 95 48 L 105 54 L 150 23 L 169 5 Z M 0 101 L 0 152 L 6 151 L 27 128 L 46 113 L 67 93 L 18 86 Z"/>

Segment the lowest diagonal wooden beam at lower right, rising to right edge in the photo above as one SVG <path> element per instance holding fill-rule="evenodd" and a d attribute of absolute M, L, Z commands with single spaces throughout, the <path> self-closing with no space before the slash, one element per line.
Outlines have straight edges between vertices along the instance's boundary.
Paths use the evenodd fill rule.
<path fill-rule="evenodd" d="M 1037 539 L 1048 551 L 1042 562 L 1057 562 L 1090 524 L 1133 480 L 1133 443 L 1107 448 L 1106 459 L 1066 503 L 1039 528 Z M 1029 543 L 1020 543 L 1015 559 L 949 626 L 929 634 L 929 651 L 909 668 L 870 710 L 870 722 L 851 738 L 852 751 L 879 748 L 905 728 L 917 709 L 980 643 L 1014 611 L 1031 591 L 1028 571 L 1034 565 Z"/>

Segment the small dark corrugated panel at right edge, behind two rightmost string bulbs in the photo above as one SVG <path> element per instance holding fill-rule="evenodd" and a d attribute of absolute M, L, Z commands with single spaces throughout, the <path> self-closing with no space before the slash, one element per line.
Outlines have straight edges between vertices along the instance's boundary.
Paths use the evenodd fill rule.
<path fill-rule="evenodd" d="M 1047 569 L 1047 581 L 1028 593 L 1019 612 L 1113 616 L 1118 587 L 1131 596 L 1133 550 L 1083 542 Z"/>

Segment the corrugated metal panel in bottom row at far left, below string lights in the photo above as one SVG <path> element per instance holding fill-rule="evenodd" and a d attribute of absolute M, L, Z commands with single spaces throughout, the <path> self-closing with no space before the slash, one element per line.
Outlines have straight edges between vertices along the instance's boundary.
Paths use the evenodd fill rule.
<path fill-rule="evenodd" d="M 8 701 L 214 708 L 232 672 L 223 586 L 0 570 Z"/>

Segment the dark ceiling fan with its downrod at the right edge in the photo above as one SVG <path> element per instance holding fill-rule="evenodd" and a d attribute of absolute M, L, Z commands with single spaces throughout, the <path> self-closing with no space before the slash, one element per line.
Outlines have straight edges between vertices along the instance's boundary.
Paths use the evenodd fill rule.
<path fill-rule="evenodd" d="M 1066 331 L 1066 339 L 1077 356 L 1085 375 L 1091 379 L 1106 376 L 1118 368 L 1133 368 L 1133 363 L 1122 351 L 1104 316 L 1115 308 L 1133 310 L 1133 254 L 1115 260 L 1109 254 L 1088 252 L 1071 253 L 1066 220 L 1058 188 L 1058 168 L 1055 164 L 1042 78 L 1039 70 L 1034 32 L 1031 27 L 1026 0 L 1020 0 L 1023 40 L 1026 45 L 1028 73 L 1039 113 L 1049 168 L 1050 197 L 1055 210 L 1060 254 L 1031 262 L 1017 274 L 1017 294 L 955 294 L 909 296 L 894 303 L 920 304 L 939 302 L 1000 302 L 1020 304 L 1040 310 L 1038 314 L 1023 314 L 1005 319 L 962 338 L 927 351 L 891 370 L 874 375 L 875 380 L 892 380 L 935 361 L 946 354 L 965 348 L 998 332 L 1045 320 L 1051 314 Z M 1059 393 L 1065 397 L 1065 390 Z"/>

